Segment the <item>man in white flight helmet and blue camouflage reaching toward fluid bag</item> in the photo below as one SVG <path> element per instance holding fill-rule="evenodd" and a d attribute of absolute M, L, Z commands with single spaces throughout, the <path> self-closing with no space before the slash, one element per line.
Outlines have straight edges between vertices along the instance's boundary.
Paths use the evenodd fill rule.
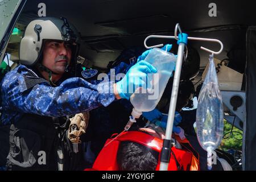
<path fill-rule="evenodd" d="M 135 90 L 145 84 L 147 73 L 156 73 L 142 60 L 121 81 L 93 85 L 74 76 L 78 51 L 79 35 L 66 19 L 40 18 L 28 24 L 20 42 L 21 64 L 1 82 L 0 124 L 10 126 L 9 141 L 5 141 L 10 150 L 1 153 L 7 156 L 7 169 L 57 169 L 57 151 L 70 148 L 67 131 L 61 130 L 66 128 L 67 115 L 108 106 L 120 98 L 128 100 L 130 86 Z M 46 153 L 41 162 L 40 151 Z M 77 169 L 74 161 L 81 156 L 71 151 L 64 156 L 71 158 L 64 162 L 64 169 Z"/>

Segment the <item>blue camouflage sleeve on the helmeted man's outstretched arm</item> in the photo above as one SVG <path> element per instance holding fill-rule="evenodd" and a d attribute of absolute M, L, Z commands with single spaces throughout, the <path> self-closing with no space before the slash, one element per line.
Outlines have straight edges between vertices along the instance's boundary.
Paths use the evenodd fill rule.
<path fill-rule="evenodd" d="M 115 99 L 113 82 L 93 85 L 82 78 L 74 77 L 57 87 L 43 82 L 32 89 L 26 89 L 23 78 L 19 76 L 16 81 L 6 82 L 7 105 L 22 113 L 60 117 L 81 113 L 100 105 L 108 106 Z"/>

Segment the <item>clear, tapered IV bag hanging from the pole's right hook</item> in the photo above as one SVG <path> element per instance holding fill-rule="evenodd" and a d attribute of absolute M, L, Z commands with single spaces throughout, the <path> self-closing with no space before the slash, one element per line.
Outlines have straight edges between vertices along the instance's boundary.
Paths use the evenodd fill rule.
<path fill-rule="evenodd" d="M 207 76 L 199 94 L 196 130 L 201 147 L 208 153 L 208 169 L 212 169 L 212 151 L 220 145 L 223 137 L 224 113 L 213 55 L 210 55 L 209 61 Z"/>

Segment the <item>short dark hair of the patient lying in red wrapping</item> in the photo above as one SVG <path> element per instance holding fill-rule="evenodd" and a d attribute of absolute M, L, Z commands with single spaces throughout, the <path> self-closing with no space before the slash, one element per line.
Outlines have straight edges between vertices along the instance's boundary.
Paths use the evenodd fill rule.
<path fill-rule="evenodd" d="M 159 152 L 139 143 L 121 142 L 117 152 L 117 163 L 121 171 L 155 171 Z"/>

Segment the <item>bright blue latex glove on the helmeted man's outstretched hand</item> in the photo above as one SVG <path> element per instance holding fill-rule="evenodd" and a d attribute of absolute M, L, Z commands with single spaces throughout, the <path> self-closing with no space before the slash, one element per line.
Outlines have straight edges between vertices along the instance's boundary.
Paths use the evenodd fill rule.
<path fill-rule="evenodd" d="M 157 70 L 146 61 L 139 61 L 129 69 L 125 77 L 117 82 L 117 92 L 121 98 L 129 100 L 131 94 L 139 87 L 146 87 L 148 73 L 156 73 Z M 130 88 L 130 89 L 129 89 Z"/>

